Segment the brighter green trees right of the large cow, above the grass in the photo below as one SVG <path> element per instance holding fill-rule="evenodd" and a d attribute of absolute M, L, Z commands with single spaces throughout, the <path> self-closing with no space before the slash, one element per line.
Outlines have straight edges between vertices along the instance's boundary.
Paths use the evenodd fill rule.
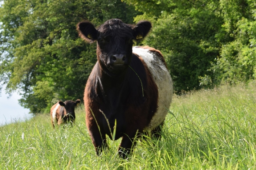
<path fill-rule="evenodd" d="M 255 78 L 255 1 L 125 2 L 153 22 L 143 44 L 162 51 L 176 92 Z"/>

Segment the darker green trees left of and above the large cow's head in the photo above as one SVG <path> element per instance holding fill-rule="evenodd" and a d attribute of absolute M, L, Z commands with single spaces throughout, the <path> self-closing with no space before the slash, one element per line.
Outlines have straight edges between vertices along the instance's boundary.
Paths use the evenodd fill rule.
<path fill-rule="evenodd" d="M 0 82 L 20 89 L 20 104 L 49 112 L 58 100 L 82 99 L 96 63 L 96 44 L 78 38 L 76 24 L 138 14 L 119 0 L 3 0 L 0 8 Z"/>

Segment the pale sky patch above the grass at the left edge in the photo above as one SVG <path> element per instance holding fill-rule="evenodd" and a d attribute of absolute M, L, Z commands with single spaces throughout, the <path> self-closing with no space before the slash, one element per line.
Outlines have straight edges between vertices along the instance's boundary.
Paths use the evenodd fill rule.
<path fill-rule="evenodd" d="M 0 96 L 0 126 L 15 122 L 17 120 L 22 121 L 25 119 L 32 118 L 32 114 L 29 114 L 29 109 L 19 105 L 18 99 L 21 96 L 15 92 L 12 93 L 10 98 L 9 95 L 5 94 L 5 87 L 3 87 Z"/>

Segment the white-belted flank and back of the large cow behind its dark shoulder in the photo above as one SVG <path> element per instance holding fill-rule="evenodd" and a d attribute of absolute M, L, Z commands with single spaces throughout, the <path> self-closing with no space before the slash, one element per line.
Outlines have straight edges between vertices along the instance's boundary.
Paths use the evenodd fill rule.
<path fill-rule="evenodd" d="M 172 79 L 163 55 L 160 51 L 154 48 L 133 47 L 133 53 L 138 55 L 146 63 L 149 71 L 158 87 L 158 108 L 155 112 L 147 130 L 152 130 L 163 122 L 167 109 L 169 109 L 172 100 Z"/>

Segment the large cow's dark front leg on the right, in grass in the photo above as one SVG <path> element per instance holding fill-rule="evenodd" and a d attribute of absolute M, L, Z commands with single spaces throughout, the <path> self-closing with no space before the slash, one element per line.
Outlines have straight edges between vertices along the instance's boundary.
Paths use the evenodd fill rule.
<path fill-rule="evenodd" d="M 133 131 L 129 131 L 124 134 L 121 144 L 118 148 L 118 153 L 121 158 L 125 159 L 129 156 L 131 150 L 136 145 L 135 137 L 137 137 L 139 133 L 141 133 L 141 131 L 139 131 L 138 129 L 134 129 Z"/>

